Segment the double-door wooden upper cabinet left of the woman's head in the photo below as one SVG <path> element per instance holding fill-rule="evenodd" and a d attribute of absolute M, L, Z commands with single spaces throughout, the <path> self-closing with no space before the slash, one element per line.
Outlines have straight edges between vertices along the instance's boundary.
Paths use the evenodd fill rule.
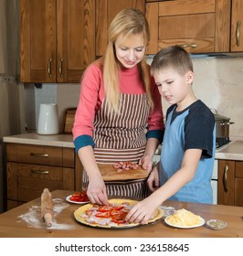
<path fill-rule="evenodd" d="M 21 81 L 79 82 L 94 33 L 95 0 L 21 0 Z"/>

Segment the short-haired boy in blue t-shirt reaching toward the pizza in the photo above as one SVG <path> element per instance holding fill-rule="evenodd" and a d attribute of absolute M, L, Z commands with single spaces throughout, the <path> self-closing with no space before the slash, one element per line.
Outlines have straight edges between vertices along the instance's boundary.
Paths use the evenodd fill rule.
<path fill-rule="evenodd" d="M 166 113 L 161 161 L 147 180 L 153 193 L 126 218 L 142 224 L 167 199 L 211 204 L 216 151 L 215 117 L 195 97 L 188 52 L 177 46 L 162 49 L 153 59 L 151 72 L 160 94 L 171 106 Z"/>

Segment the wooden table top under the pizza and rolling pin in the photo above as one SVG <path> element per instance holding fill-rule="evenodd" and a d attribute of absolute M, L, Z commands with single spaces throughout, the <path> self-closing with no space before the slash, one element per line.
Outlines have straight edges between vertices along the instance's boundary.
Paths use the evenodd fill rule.
<path fill-rule="evenodd" d="M 62 198 L 73 191 L 57 190 L 52 193 L 54 198 Z M 206 205 L 185 202 L 165 202 L 164 205 L 175 209 L 185 208 L 199 214 L 205 220 L 222 219 L 227 222 L 227 228 L 222 230 L 208 229 L 206 225 L 195 229 L 174 229 L 164 223 L 164 219 L 151 225 L 132 229 L 97 229 L 79 224 L 73 217 L 79 205 L 69 204 L 56 217 L 57 223 L 69 224 L 73 229 L 37 229 L 29 227 L 25 221 L 18 218 L 29 211 L 32 206 L 40 206 L 40 197 L 22 206 L 13 208 L 0 215 L 1 238 L 243 238 L 243 208 L 221 205 Z"/>

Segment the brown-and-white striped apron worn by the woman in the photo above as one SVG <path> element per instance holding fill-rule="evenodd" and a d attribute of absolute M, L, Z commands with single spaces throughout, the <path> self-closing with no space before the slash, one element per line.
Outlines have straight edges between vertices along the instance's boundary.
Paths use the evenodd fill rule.
<path fill-rule="evenodd" d="M 94 155 L 97 164 L 131 161 L 137 164 L 146 146 L 146 127 L 150 112 L 145 94 L 121 94 L 120 113 L 109 112 L 104 99 L 94 120 Z M 88 187 L 83 172 L 83 189 Z M 108 196 L 147 197 L 146 179 L 105 182 Z"/>

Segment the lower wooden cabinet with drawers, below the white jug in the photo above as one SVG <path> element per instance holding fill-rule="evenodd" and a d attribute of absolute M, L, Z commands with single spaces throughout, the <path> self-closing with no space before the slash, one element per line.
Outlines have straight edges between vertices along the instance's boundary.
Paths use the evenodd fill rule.
<path fill-rule="evenodd" d="M 45 187 L 75 190 L 73 148 L 6 144 L 7 209 L 40 197 Z"/>

